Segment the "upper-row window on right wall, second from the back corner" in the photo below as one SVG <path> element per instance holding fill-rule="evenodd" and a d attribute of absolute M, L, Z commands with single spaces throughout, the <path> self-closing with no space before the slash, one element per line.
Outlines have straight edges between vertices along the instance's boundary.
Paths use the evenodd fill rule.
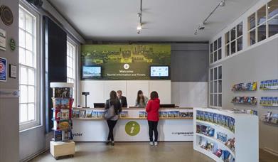
<path fill-rule="evenodd" d="M 225 33 L 225 56 L 242 50 L 242 22 Z"/>

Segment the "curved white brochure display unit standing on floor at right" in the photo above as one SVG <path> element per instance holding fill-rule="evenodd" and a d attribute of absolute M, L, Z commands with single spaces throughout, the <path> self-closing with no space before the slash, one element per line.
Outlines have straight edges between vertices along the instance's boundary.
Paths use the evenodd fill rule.
<path fill-rule="evenodd" d="M 225 109 L 193 109 L 193 148 L 215 161 L 259 161 L 256 115 Z"/>

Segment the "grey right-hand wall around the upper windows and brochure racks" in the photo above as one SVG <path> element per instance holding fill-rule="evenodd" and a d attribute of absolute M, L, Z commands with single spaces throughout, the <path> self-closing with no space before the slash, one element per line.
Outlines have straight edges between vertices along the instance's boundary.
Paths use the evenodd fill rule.
<path fill-rule="evenodd" d="M 267 38 L 255 45 L 247 45 L 247 18 L 252 13 L 260 9 L 264 4 L 267 4 L 270 0 L 260 0 L 245 11 L 234 22 L 228 24 L 226 28 L 219 31 L 218 34 L 210 39 L 210 43 L 222 37 L 222 60 L 217 61 L 210 65 L 210 68 L 217 65 L 223 65 L 223 109 L 231 109 L 233 107 L 239 109 L 255 109 L 258 111 L 258 115 L 262 115 L 267 111 L 278 113 L 277 109 L 273 107 L 261 107 L 257 105 L 250 107 L 247 105 L 234 105 L 230 103 L 234 96 L 255 96 L 260 102 L 262 96 L 277 96 L 277 91 L 262 91 L 256 92 L 231 92 L 231 86 L 240 82 L 255 82 L 257 81 L 260 86 L 260 81 L 271 80 L 278 78 L 278 35 Z M 243 23 L 243 49 L 225 58 L 225 33 L 230 31 L 238 23 Z M 265 148 L 267 151 L 278 154 L 278 129 L 277 126 L 271 126 L 260 123 L 259 125 L 260 136 L 260 148 Z"/>

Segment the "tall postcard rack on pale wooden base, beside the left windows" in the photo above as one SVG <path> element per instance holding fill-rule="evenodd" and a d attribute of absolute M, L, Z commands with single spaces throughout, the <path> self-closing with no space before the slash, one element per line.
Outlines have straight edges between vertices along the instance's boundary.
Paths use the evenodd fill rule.
<path fill-rule="evenodd" d="M 54 138 L 50 141 L 50 153 L 54 158 L 73 156 L 75 142 L 73 134 L 73 84 L 51 82 L 53 89 L 53 131 Z"/>

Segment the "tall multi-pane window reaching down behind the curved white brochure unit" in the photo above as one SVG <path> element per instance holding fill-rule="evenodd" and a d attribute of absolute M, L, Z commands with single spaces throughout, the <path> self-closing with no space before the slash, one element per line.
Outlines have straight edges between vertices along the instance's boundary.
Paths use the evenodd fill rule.
<path fill-rule="evenodd" d="M 222 66 L 210 68 L 210 107 L 222 107 Z"/>

